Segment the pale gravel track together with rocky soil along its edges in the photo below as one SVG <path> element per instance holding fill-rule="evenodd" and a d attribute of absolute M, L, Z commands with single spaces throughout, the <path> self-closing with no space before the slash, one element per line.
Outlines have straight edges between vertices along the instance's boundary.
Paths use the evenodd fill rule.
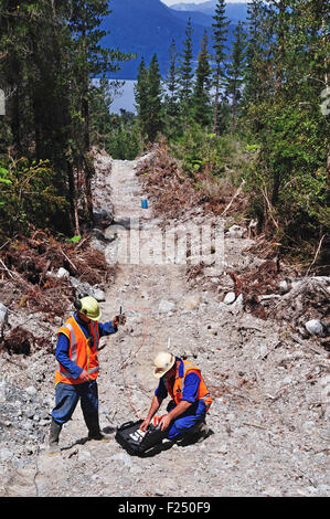
<path fill-rule="evenodd" d="M 114 212 L 114 223 L 105 230 L 109 241 L 97 244 L 115 273 L 103 286 L 103 320 L 111 319 L 120 306 L 127 316 L 118 333 L 102 339 L 100 424 L 115 436 L 117 426 L 146 415 L 157 385 L 153 357 L 169 349 L 202 370 L 213 395 L 210 435 L 201 443 L 132 457 L 115 439 L 87 442 L 77 407 L 63 427 L 61 454 L 49 456 L 53 352 L 64 317 L 49 319 L 42 308 L 35 314 L 18 306 L 20 289 L 9 297 L 12 284 L 3 279 L 9 324 L 43 342 L 31 345 L 28 333 L 29 350 L 12 346 L 1 352 L 0 496 L 329 496 L 329 352 L 324 337 L 299 330 L 304 319 L 328 316 L 319 295 L 322 289 L 329 293 L 329 278 L 319 280 L 319 304 L 309 278 L 310 304 L 299 307 L 298 318 L 297 298 L 290 298 L 295 287 L 285 295 L 278 289 L 281 280 L 292 277 L 290 268 L 278 268 L 276 257 L 253 254 L 256 239 L 247 237 L 247 227 L 239 237 L 225 233 L 221 269 L 187 264 L 187 257 L 178 264 L 171 255 L 160 264 L 150 248 L 164 225 L 181 224 L 184 232 L 192 221 L 226 230 L 233 222 L 203 204 L 188 205 L 177 218 L 167 214 L 163 202 L 159 211 L 157 190 L 149 199 L 150 184 L 141 179 L 148 158 L 98 157 L 95 197 L 99 208 L 111 204 Z M 148 209 L 141 208 L 143 198 Z M 231 304 L 224 301 L 228 293 L 234 293 Z M 70 311 L 65 307 L 65 318 Z"/>

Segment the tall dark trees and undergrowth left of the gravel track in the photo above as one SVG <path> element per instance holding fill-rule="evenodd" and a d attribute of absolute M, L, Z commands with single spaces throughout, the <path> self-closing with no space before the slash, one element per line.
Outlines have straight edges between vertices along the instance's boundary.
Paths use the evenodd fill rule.
<path fill-rule="evenodd" d="M 0 1 L 0 234 L 79 234 L 91 220 L 92 77 L 129 59 L 105 50 L 106 0 Z"/>

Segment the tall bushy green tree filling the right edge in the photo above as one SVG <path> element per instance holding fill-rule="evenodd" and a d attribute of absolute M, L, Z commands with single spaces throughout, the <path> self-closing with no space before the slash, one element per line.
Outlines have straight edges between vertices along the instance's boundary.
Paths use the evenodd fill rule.
<path fill-rule="evenodd" d="M 322 0 L 249 2 L 244 120 L 260 149 L 247 179 L 260 222 L 290 254 L 317 247 L 330 220 L 327 20 Z"/>

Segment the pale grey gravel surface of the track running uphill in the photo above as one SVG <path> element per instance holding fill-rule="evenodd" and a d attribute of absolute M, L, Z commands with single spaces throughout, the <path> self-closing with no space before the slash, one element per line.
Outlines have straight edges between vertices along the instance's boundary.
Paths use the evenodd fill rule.
<path fill-rule="evenodd" d="M 47 454 L 46 430 L 30 454 L 10 437 L 2 442 L 0 496 L 329 496 L 327 352 L 316 353 L 279 324 L 245 313 L 239 300 L 223 303 L 226 284 L 230 290 L 225 273 L 192 285 L 183 263 L 168 257 L 163 264 L 145 264 L 141 257 L 150 256 L 151 237 L 161 232 L 161 222 L 152 202 L 141 208 L 138 162 L 103 160 L 98 203 L 113 203 L 115 222 L 106 236 L 116 235 L 105 252 L 109 263 L 120 257 L 102 303 L 103 320 L 121 306 L 127 322 L 102 339 L 100 425 L 115 435 L 124 422 L 147 414 L 157 386 L 153 357 L 170 350 L 202 370 L 213 395 L 210 435 L 201 443 L 132 457 L 115 439 L 87 442 L 77 407 L 63 427 L 57 456 Z M 205 222 L 195 218 L 196 224 Z M 244 253 L 249 243 L 225 239 L 226 269 L 241 272 L 256 261 Z M 22 389 L 34 386 L 35 398 L 51 410 L 53 357 L 39 356 L 25 364 L 32 381 L 18 374 L 15 382 Z M 33 378 L 39 367 L 42 380 Z M 15 368 L 2 367 L 2 374 L 9 375 L 9 369 Z"/>

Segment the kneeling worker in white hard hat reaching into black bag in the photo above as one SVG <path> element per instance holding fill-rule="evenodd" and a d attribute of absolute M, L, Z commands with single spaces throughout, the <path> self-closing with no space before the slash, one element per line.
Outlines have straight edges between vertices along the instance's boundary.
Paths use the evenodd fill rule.
<path fill-rule="evenodd" d="M 205 415 L 212 396 L 202 379 L 201 370 L 187 360 L 168 352 L 160 352 L 155 359 L 153 374 L 160 379 L 147 419 L 141 430 L 147 431 L 152 416 L 162 401 L 170 394 L 168 413 L 160 417 L 159 425 L 167 431 L 167 437 L 181 439 L 187 433 L 199 433 L 205 436 L 207 427 Z"/>

